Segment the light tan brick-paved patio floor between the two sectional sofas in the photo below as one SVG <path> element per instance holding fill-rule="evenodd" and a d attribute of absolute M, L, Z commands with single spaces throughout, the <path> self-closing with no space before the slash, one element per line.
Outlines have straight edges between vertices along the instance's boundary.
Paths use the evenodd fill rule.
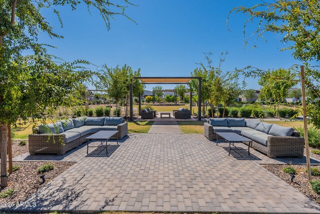
<path fill-rule="evenodd" d="M 259 164 L 283 159 L 228 156 L 227 146 L 202 134 L 130 134 L 109 156 L 81 146 L 59 158 L 77 163 L 27 199 L 36 207 L 10 211 L 320 212 Z"/>

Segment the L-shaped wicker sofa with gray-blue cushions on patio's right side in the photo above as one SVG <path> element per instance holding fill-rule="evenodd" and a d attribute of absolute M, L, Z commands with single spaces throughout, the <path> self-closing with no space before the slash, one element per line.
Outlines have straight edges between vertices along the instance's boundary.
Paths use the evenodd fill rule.
<path fill-rule="evenodd" d="M 252 148 L 269 157 L 303 156 L 304 138 L 293 128 L 244 118 L 209 118 L 204 136 L 216 140 L 216 132 L 234 132 L 252 140 Z"/>

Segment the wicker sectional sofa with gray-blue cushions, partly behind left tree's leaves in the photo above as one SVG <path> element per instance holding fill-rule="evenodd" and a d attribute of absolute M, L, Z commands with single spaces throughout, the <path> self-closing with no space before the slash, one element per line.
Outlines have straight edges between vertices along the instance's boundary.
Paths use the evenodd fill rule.
<path fill-rule="evenodd" d="M 128 127 L 122 117 L 79 117 L 39 125 L 29 135 L 29 153 L 61 155 L 101 130 L 117 130 L 117 138 L 122 139 L 127 135 Z M 116 138 L 116 135 L 113 137 Z"/>

